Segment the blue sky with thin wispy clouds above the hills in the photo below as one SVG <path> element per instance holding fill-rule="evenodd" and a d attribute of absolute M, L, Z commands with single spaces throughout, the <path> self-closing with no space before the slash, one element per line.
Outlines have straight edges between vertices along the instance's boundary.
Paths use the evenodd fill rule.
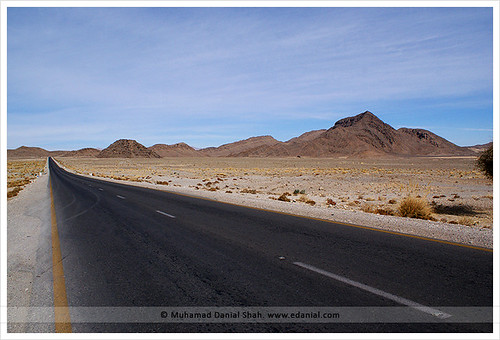
<path fill-rule="evenodd" d="M 369 110 L 493 138 L 491 8 L 8 8 L 8 148 L 288 140 Z"/>

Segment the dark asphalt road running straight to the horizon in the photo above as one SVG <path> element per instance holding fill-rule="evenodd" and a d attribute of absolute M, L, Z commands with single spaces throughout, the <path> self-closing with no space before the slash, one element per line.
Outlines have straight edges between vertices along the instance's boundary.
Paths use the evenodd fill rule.
<path fill-rule="evenodd" d="M 492 332 L 491 323 L 454 322 L 449 308 L 492 306 L 491 252 L 86 178 L 51 159 L 49 168 L 70 307 L 413 304 L 409 313 L 421 316 L 403 323 L 104 317 L 72 323 L 73 332 Z"/>

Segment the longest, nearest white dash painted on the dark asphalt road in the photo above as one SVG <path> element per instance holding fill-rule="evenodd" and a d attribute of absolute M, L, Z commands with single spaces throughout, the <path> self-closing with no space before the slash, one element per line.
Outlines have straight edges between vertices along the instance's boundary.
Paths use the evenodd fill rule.
<path fill-rule="evenodd" d="M 343 277 L 343 276 L 340 276 L 340 275 L 336 275 L 336 274 L 327 272 L 326 270 L 316 268 L 316 267 L 311 266 L 309 264 L 302 263 L 302 262 L 294 262 L 293 264 L 296 265 L 296 266 L 305 268 L 305 269 L 309 269 L 309 270 L 311 270 L 313 272 L 319 273 L 319 274 L 327 276 L 329 278 L 335 279 L 337 281 L 346 283 L 348 285 L 357 287 L 359 289 L 365 290 L 365 291 L 370 292 L 372 294 L 375 294 L 375 295 L 378 295 L 378 296 L 382 296 L 382 297 L 384 297 L 386 299 L 392 300 L 392 301 L 397 302 L 397 303 L 399 303 L 401 305 L 406 305 L 408 307 L 415 308 L 415 309 L 417 309 L 417 310 L 419 310 L 421 312 L 424 312 L 424 313 L 430 314 L 432 316 L 435 316 L 436 318 L 447 319 L 447 318 L 451 317 L 451 314 L 447 314 L 447 313 L 442 312 L 442 311 L 440 311 L 438 309 L 434 309 L 434 308 L 431 308 L 431 307 L 427 307 L 427 306 L 421 305 L 418 302 L 414 302 L 414 301 L 411 301 L 411 300 L 399 297 L 397 295 L 393 295 L 393 294 L 384 292 L 383 290 L 380 290 L 380 289 L 377 289 L 377 288 L 373 288 L 373 287 L 367 286 L 367 285 L 365 285 L 363 283 L 356 282 L 356 281 L 353 281 L 351 279 L 348 279 L 346 277 Z"/>

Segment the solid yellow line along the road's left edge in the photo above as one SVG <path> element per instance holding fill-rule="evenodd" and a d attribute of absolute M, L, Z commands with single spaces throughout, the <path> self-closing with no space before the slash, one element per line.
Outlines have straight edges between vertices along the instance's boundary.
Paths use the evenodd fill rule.
<path fill-rule="evenodd" d="M 59 233 L 57 231 L 54 196 L 52 195 L 52 181 L 50 181 L 50 201 L 52 217 L 52 276 L 54 280 L 55 327 L 56 333 L 71 333 L 71 319 L 69 316 L 68 298 L 66 296 L 66 282 L 64 280 L 61 245 L 59 243 Z"/>

